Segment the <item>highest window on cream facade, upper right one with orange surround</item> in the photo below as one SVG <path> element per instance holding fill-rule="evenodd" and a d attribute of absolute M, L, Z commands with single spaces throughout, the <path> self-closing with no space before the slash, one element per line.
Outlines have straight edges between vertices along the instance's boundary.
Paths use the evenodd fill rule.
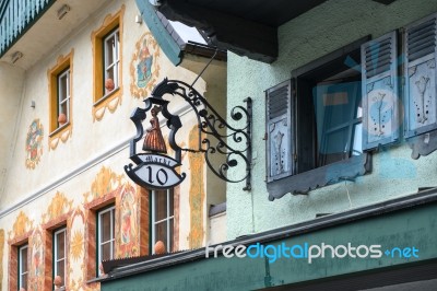
<path fill-rule="evenodd" d="M 119 28 L 117 27 L 115 31 L 110 32 L 103 39 L 103 50 L 104 50 L 104 86 L 105 86 L 105 95 L 113 92 L 113 90 L 118 88 L 118 66 L 120 62 L 119 50 L 120 50 L 120 42 L 119 42 Z"/>

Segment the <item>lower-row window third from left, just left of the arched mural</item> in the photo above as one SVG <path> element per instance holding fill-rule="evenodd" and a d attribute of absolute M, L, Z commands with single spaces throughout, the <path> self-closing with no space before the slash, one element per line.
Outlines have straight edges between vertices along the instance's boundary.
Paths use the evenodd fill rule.
<path fill-rule="evenodd" d="M 97 265 L 101 264 L 102 260 L 114 258 L 115 212 L 116 208 L 114 206 L 97 212 Z"/>

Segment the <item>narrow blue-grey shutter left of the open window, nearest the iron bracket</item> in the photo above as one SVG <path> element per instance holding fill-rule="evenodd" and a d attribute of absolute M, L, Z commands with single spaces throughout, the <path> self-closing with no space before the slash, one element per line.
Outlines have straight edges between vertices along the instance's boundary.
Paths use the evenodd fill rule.
<path fill-rule="evenodd" d="M 265 91 L 268 182 L 293 173 L 291 90 L 288 80 Z"/>

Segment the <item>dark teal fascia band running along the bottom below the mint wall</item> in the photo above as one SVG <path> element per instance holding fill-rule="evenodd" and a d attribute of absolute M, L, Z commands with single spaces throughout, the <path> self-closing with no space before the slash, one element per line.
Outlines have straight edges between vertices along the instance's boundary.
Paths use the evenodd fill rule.
<path fill-rule="evenodd" d="M 288 247 L 304 243 L 309 245 L 326 243 L 333 246 L 347 245 L 347 243 L 352 246 L 381 245 L 382 252 L 387 248 L 414 246 L 418 249 L 418 258 L 391 258 L 386 255 L 380 258 L 326 257 L 315 259 L 312 264 L 308 264 L 304 258 L 280 258 L 267 265 L 263 258 L 220 256 L 106 281 L 102 283 L 102 290 L 255 290 L 267 287 L 265 266 L 269 266 L 270 286 L 391 268 L 394 265 L 408 267 L 409 263 L 437 257 L 436 211 L 437 203 L 435 202 L 270 243 L 273 245 L 284 243 Z"/>

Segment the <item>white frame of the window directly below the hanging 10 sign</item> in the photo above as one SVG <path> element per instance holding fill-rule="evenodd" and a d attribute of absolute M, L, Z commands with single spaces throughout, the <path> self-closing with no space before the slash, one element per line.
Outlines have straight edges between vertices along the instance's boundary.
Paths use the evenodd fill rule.
<path fill-rule="evenodd" d="M 168 245 L 166 245 L 165 248 L 166 248 L 166 252 L 169 253 L 169 252 L 174 251 L 173 249 L 173 241 L 174 241 L 173 235 L 175 233 L 174 230 L 170 230 L 172 220 L 173 220 L 173 225 L 175 225 L 175 209 L 173 209 L 173 216 L 168 216 L 168 213 L 170 213 L 170 200 L 169 199 L 170 198 L 173 199 L 173 207 L 175 207 L 175 197 L 174 197 L 174 190 L 173 189 L 167 189 L 165 191 L 166 191 L 165 195 L 167 196 L 167 199 L 166 199 L 166 201 L 167 201 L 167 206 L 166 206 L 167 216 L 164 219 L 158 220 L 158 221 L 155 221 L 156 200 L 157 200 L 156 196 L 157 195 L 163 195 L 163 194 L 157 194 L 155 190 L 151 191 L 151 197 L 152 197 L 152 211 L 151 211 L 152 212 L 152 245 L 154 246 L 156 244 L 156 230 L 155 230 L 156 225 L 160 224 L 160 223 L 166 223 L 167 244 Z M 168 243 L 168 242 L 170 242 L 170 243 Z M 152 254 L 155 254 L 155 248 L 154 247 L 152 247 Z"/>

